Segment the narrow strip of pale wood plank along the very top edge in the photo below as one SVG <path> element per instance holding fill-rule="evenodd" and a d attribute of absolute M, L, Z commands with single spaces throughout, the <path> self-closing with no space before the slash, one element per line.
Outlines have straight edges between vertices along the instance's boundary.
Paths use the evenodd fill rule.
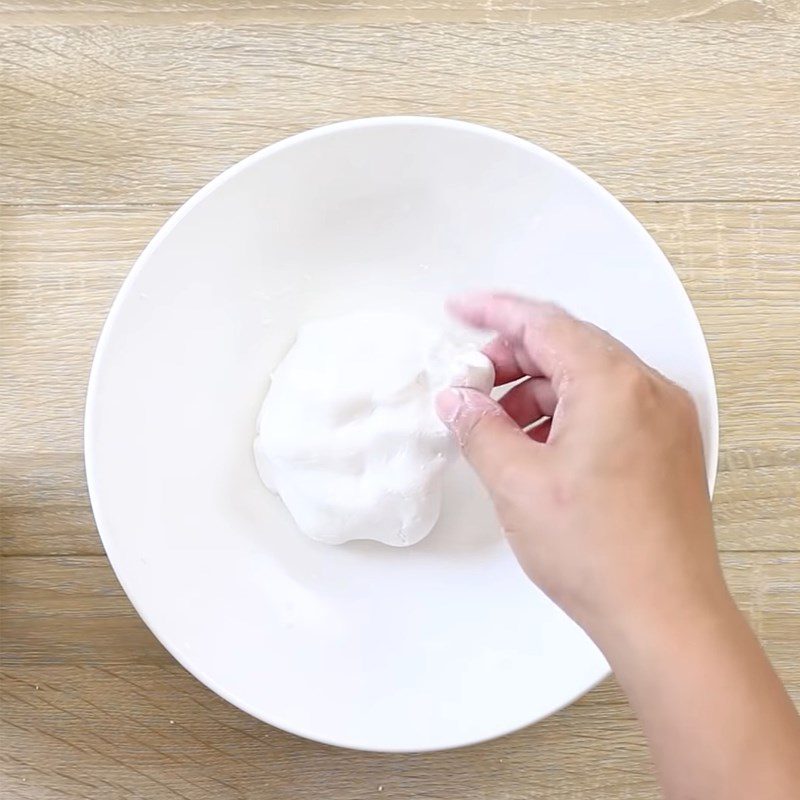
<path fill-rule="evenodd" d="M 788 22 L 795 0 L 0 0 L 0 24 Z"/>

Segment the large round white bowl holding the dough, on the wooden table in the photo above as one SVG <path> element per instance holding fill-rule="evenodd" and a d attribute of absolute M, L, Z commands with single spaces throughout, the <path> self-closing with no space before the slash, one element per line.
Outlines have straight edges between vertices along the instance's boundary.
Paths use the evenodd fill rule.
<path fill-rule="evenodd" d="M 97 525 L 151 630 L 239 708 L 345 747 L 434 750 L 608 674 L 465 466 L 438 527 L 399 550 L 307 540 L 256 474 L 256 416 L 301 322 L 443 322 L 448 295 L 487 287 L 553 298 L 686 386 L 714 475 L 711 366 L 664 255 L 590 178 L 504 133 L 390 117 L 291 137 L 198 192 L 125 281 L 87 400 Z"/>

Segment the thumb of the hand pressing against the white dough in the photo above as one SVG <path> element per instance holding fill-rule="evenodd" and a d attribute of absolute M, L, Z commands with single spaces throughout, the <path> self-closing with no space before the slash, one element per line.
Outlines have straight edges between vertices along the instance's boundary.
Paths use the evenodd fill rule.
<path fill-rule="evenodd" d="M 530 457 L 532 449 L 541 446 L 498 403 L 476 389 L 445 389 L 436 398 L 436 411 L 490 491 L 501 488 L 498 483 L 509 464 Z"/>

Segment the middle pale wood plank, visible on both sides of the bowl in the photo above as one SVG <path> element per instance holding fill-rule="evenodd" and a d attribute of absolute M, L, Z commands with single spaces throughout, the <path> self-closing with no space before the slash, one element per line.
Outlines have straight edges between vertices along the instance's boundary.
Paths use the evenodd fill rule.
<path fill-rule="evenodd" d="M 633 204 L 709 339 L 725 549 L 800 549 L 800 204 Z M 102 552 L 86 497 L 82 414 L 105 314 L 170 208 L 0 209 L 0 548 Z"/>

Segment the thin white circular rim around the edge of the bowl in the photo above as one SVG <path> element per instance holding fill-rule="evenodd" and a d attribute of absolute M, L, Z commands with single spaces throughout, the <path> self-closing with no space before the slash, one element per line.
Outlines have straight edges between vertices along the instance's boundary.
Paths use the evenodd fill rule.
<path fill-rule="evenodd" d="M 514 733 L 518 730 L 522 730 L 523 728 L 526 728 L 536 722 L 546 719 L 547 717 L 561 711 L 562 709 L 566 708 L 567 706 L 571 705 L 572 703 L 580 699 L 583 695 L 590 692 L 593 688 L 595 688 L 598 684 L 604 681 L 611 674 L 611 669 L 610 667 L 606 667 L 606 669 L 603 670 L 598 675 L 597 679 L 593 681 L 590 685 L 576 692 L 574 695 L 570 695 L 565 700 L 553 704 L 552 707 L 548 707 L 548 710 L 545 713 L 535 715 L 531 719 L 527 720 L 522 724 L 502 726 L 498 728 L 496 731 L 487 733 L 485 736 L 479 738 L 465 739 L 456 734 L 454 736 L 451 736 L 447 741 L 441 741 L 440 743 L 434 743 L 432 745 L 426 745 L 422 747 L 411 747 L 411 746 L 370 747 L 368 745 L 365 745 L 363 742 L 347 741 L 344 738 L 336 739 L 334 737 L 321 737 L 319 735 L 314 734 L 312 731 L 303 730 L 299 727 L 294 726 L 291 723 L 286 722 L 285 720 L 270 717 L 269 715 L 264 714 L 261 711 L 255 710 L 247 701 L 242 700 L 240 697 L 238 697 L 235 691 L 220 686 L 213 678 L 211 678 L 201 668 L 199 668 L 197 664 L 194 664 L 193 659 L 189 657 L 186 653 L 182 652 L 180 647 L 178 647 L 176 644 L 170 643 L 166 636 L 161 635 L 161 633 L 158 630 L 158 625 L 154 623 L 151 617 L 149 617 L 147 614 L 143 612 L 142 608 L 140 607 L 140 604 L 138 603 L 135 597 L 135 594 L 129 591 L 129 586 L 123 574 L 124 573 L 123 559 L 120 557 L 119 553 L 116 550 L 113 536 L 109 534 L 109 525 L 105 520 L 103 503 L 101 501 L 100 493 L 97 488 L 97 482 L 96 482 L 97 469 L 95 465 L 95 453 L 94 453 L 93 442 L 95 441 L 96 438 L 95 422 L 94 422 L 96 418 L 96 408 L 98 404 L 101 402 L 98 390 L 98 384 L 100 380 L 99 375 L 102 370 L 103 362 L 106 358 L 108 343 L 111 336 L 111 330 L 114 327 L 115 320 L 119 315 L 120 309 L 122 308 L 123 304 L 126 302 L 128 295 L 130 294 L 131 286 L 136 280 L 138 274 L 142 271 L 144 266 L 149 261 L 151 255 L 161 246 L 161 243 L 177 227 L 177 225 L 184 219 L 184 217 L 188 216 L 196 206 L 198 206 L 200 203 L 203 202 L 205 198 L 209 197 L 211 194 L 216 192 L 221 186 L 226 184 L 228 181 L 230 181 L 239 173 L 246 171 L 254 164 L 262 160 L 265 160 L 267 158 L 270 158 L 274 155 L 277 155 L 278 153 L 280 153 L 285 149 L 302 145 L 306 142 L 310 142 L 313 141 L 314 139 L 322 138 L 330 134 L 336 134 L 348 130 L 356 130 L 364 128 L 380 128 L 380 127 L 429 127 L 438 129 L 450 129 L 454 131 L 477 134 L 486 137 L 488 139 L 493 139 L 496 142 L 501 142 L 507 145 L 524 149 L 528 153 L 531 153 L 540 159 L 550 162 L 551 164 L 557 166 L 559 169 L 566 170 L 574 178 L 576 178 L 585 186 L 587 186 L 589 189 L 591 189 L 592 192 L 600 196 L 606 203 L 610 203 L 611 205 L 613 205 L 618 212 L 622 213 L 623 216 L 627 217 L 631 222 L 634 223 L 633 230 L 637 232 L 638 236 L 646 238 L 648 244 L 651 247 L 655 247 L 656 251 L 660 254 L 661 258 L 663 259 L 665 265 L 669 268 L 669 271 L 672 274 L 672 279 L 674 280 L 674 283 L 676 284 L 679 291 L 682 293 L 685 304 L 688 307 L 688 310 L 691 312 L 691 315 L 693 316 L 696 327 L 696 336 L 699 339 L 699 343 L 702 345 L 704 352 L 706 353 L 708 370 L 705 376 L 705 381 L 706 381 L 705 391 L 709 399 L 710 416 L 708 420 L 709 430 L 707 431 L 708 450 L 705 453 L 705 460 L 706 460 L 709 492 L 710 494 L 713 494 L 718 462 L 719 462 L 719 406 L 718 406 L 719 401 L 716 390 L 716 380 L 714 377 L 713 364 L 711 362 L 711 356 L 708 350 L 708 345 L 702 327 L 700 325 L 700 321 L 697 317 L 697 313 L 694 309 L 694 306 L 692 305 L 691 300 L 689 299 L 689 296 L 686 292 L 686 289 L 683 286 L 683 283 L 681 282 L 680 278 L 675 272 L 675 269 L 669 262 L 669 259 L 667 259 L 666 255 L 664 255 L 658 243 L 653 239 L 653 237 L 648 233 L 648 231 L 645 229 L 642 223 L 639 222 L 639 220 L 633 215 L 633 213 L 629 211 L 628 208 L 626 208 L 626 206 L 616 197 L 614 197 L 614 195 L 612 195 L 607 189 L 605 189 L 601 184 L 595 181 L 587 173 L 585 173 L 578 167 L 574 166 L 569 161 L 566 161 L 560 156 L 557 156 L 556 154 L 550 152 L 549 150 L 546 150 L 543 147 L 528 141 L 527 139 L 523 139 L 519 136 L 515 136 L 514 134 L 506 133 L 505 131 L 497 130 L 495 128 L 491 128 L 485 125 L 480 125 L 473 122 L 467 122 L 464 120 L 451 119 L 446 117 L 415 116 L 415 115 L 375 116 L 375 117 L 361 117 L 355 119 L 347 119 L 311 128 L 309 130 L 301 131 L 299 133 L 290 135 L 284 139 L 281 139 L 277 142 L 274 142 L 272 144 L 269 144 L 261 148 L 255 153 L 246 156 L 242 160 L 236 162 L 235 164 L 223 170 L 220 174 L 212 178 L 208 183 L 206 183 L 193 195 L 191 195 L 188 200 L 186 200 L 181 206 L 178 207 L 176 211 L 174 211 L 167 218 L 167 220 L 159 228 L 157 233 L 152 237 L 152 239 L 150 239 L 148 244 L 142 250 L 138 258 L 134 262 L 133 266 L 131 267 L 130 271 L 126 275 L 125 279 L 123 280 L 116 294 L 116 297 L 114 298 L 111 304 L 106 319 L 103 322 L 100 335 L 97 339 L 97 344 L 95 345 L 95 350 L 92 358 L 92 366 L 89 373 L 89 380 L 86 389 L 86 401 L 84 410 L 84 432 L 83 432 L 84 467 L 85 467 L 87 490 L 89 494 L 89 501 L 92 508 L 92 513 L 95 518 L 97 532 L 117 580 L 119 581 L 129 602 L 131 603 L 131 605 L 133 606 L 139 617 L 142 619 L 142 621 L 145 623 L 145 625 L 147 625 L 148 629 L 153 633 L 153 635 L 161 643 L 161 645 L 170 653 L 170 655 L 172 655 L 172 657 L 197 680 L 199 680 L 207 688 L 211 689 L 211 691 L 213 691 L 218 696 L 222 697 L 227 702 L 239 708 L 241 711 L 244 711 L 246 714 L 249 714 L 250 716 L 255 717 L 256 719 L 265 722 L 268 725 L 272 725 L 273 727 L 279 728 L 295 736 L 299 736 L 304 739 L 308 739 L 310 741 L 321 742 L 323 744 L 332 745 L 335 747 L 361 750 L 366 752 L 382 752 L 382 753 L 435 752 L 439 750 L 451 750 L 456 748 L 468 747 L 471 745 L 480 744 L 482 742 L 491 741 L 493 739 L 506 736 L 510 733 Z"/>

